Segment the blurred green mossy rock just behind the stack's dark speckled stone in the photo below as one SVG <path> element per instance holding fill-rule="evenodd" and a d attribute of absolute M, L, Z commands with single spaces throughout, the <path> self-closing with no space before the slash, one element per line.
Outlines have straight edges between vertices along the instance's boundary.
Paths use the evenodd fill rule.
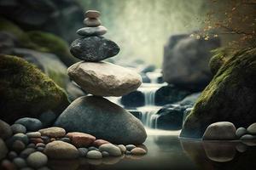
<path fill-rule="evenodd" d="M 58 55 L 65 65 L 73 65 L 79 61 L 70 54 L 67 42 L 61 37 L 43 31 L 28 31 L 27 35 L 33 43 L 44 48 L 44 52 Z"/>

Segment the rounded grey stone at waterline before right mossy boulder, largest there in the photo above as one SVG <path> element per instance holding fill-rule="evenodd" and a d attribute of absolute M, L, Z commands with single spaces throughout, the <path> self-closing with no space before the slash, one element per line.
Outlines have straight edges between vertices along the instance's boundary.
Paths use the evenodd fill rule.
<path fill-rule="evenodd" d="M 236 139 L 236 127 L 231 122 L 215 122 L 207 127 L 203 140 Z"/>

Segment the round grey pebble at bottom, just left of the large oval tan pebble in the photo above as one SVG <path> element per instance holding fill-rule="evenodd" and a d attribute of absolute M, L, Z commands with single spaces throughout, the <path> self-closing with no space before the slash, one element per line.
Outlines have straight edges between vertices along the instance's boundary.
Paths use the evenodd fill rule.
<path fill-rule="evenodd" d="M 39 168 L 47 164 L 48 158 L 42 152 L 36 151 L 26 158 L 26 162 L 30 167 Z"/>

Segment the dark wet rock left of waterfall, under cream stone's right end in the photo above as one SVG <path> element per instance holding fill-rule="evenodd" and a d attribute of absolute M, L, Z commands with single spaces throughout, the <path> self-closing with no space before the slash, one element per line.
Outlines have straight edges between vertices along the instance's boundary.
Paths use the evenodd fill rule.
<path fill-rule="evenodd" d="M 130 94 L 125 94 L 121 98 L 121 104 L 125 107 L 139 107 L 145 105 L 145 96 L 140 91 L 134 91 Z"/>

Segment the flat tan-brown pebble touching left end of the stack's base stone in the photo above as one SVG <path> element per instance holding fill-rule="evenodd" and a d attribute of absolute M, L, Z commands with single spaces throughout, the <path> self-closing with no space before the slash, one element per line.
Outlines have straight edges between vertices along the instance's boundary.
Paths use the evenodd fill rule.
<path fill-rule="evenodd" d="M 42 136 L 48 136 L 49 138 L 62 138 L 65 137 L 66 131 L 61 127 L 49 127 L 39 130 Z"/>

